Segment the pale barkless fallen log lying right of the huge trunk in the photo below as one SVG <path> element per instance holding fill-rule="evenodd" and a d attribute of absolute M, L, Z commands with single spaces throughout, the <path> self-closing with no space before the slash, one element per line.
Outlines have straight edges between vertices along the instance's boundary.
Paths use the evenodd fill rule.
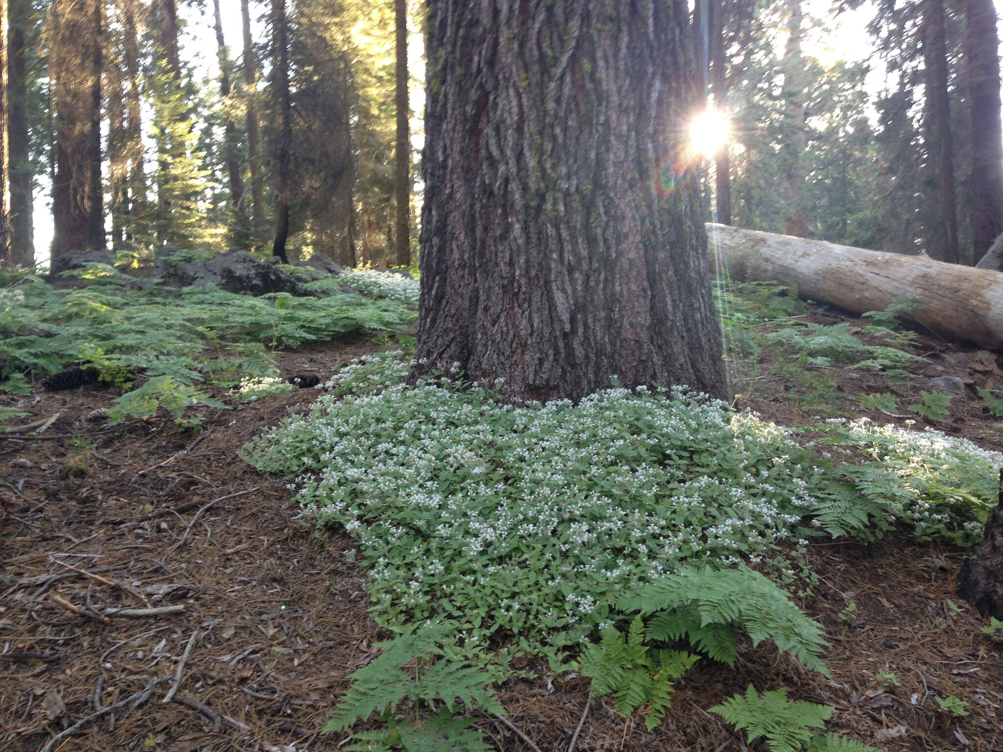
<path fill-rule="evenodd" d="M 796 285 L 801 298 L 858 315 L 905 294 L 920 307 L 904 321 L 1003 350 L 1003 272 L 709 223 L 707 240 L 715 274 L 723 265 L 738 281 Z"/>

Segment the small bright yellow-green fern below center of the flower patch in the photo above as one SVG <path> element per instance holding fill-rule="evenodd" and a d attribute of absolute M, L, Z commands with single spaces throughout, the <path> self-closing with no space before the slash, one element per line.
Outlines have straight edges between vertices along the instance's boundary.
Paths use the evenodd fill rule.
<path fill-rule="evenodd" d="M 645 725 L 650 731 L 665 718 L 671 704 L 674 680 L 698 660 L 692 653 L 651 650 L 644 645 L 641 617 L 631 622 L 627 639 L 615 627 L 607 627 L 599 645 L 582 648 L 582 676 L 592 679 L 595 697 L 613 694 L 617 711 L 630 715 L 647 705 Z"/>

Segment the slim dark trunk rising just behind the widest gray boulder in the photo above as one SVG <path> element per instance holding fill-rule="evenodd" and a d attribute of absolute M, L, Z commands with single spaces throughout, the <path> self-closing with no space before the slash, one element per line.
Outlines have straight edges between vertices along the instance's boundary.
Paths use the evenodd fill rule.
<path fill-rule="evenodd" d="M 289 93 L 289 18 L 286 0 L 272 0 L 272 89 L 279 127 L 275 138 L 275 243 L 272 255 L 283 263 L 289 238 L 289 189 L 293 147 L 293 101 Z"/>

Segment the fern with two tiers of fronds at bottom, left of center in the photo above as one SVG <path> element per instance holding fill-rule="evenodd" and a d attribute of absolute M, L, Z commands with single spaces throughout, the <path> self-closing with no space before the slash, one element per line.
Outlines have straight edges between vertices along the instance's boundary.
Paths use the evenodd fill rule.
<path fill-rule="evenodd" d="M 344 749 L 490 749 L 480 733 L 470 729 L 471 721 L 457 713 L 465 707 L 467 712 L 476 708 L 504 715 L 505 708 L 488 689 L 494 677 L 456 657 L 454 633 L 455 625 L 428 623 L 375 646 L 382 653 L 349 677 L 352 685 L 324 732 L 348 729 L 378 715 L 386 727 L 353 734 L 362 743 Z M 431 717 L 421 725 L 402 724 L 396 719 L 398 709 L 428 711 Z"/>

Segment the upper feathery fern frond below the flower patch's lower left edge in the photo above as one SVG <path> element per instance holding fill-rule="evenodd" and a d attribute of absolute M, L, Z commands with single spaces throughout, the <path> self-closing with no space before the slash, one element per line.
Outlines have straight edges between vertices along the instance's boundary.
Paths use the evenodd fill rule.
<path fill-rule="evenodd" d="M 446 657 L 450 634 L 446 624 L 422 625 L 378 645 L 383 653 L 349 677 L 352 686 L 324 731 L 347 729 L 374 713 L 391 721 L 403 702 L 410 706 L 419 701 L 428 706 L 439 703 L 438 710 L 450 717 L 460 705 L 467 710 L 476 705 L 485 712 L 504 714 L 505 709 L 488 689 L 491 677 Z M 412 664 L 413 669 L 404 670 Z M 432 728 L 443 731 L 447 726 Z"/>

